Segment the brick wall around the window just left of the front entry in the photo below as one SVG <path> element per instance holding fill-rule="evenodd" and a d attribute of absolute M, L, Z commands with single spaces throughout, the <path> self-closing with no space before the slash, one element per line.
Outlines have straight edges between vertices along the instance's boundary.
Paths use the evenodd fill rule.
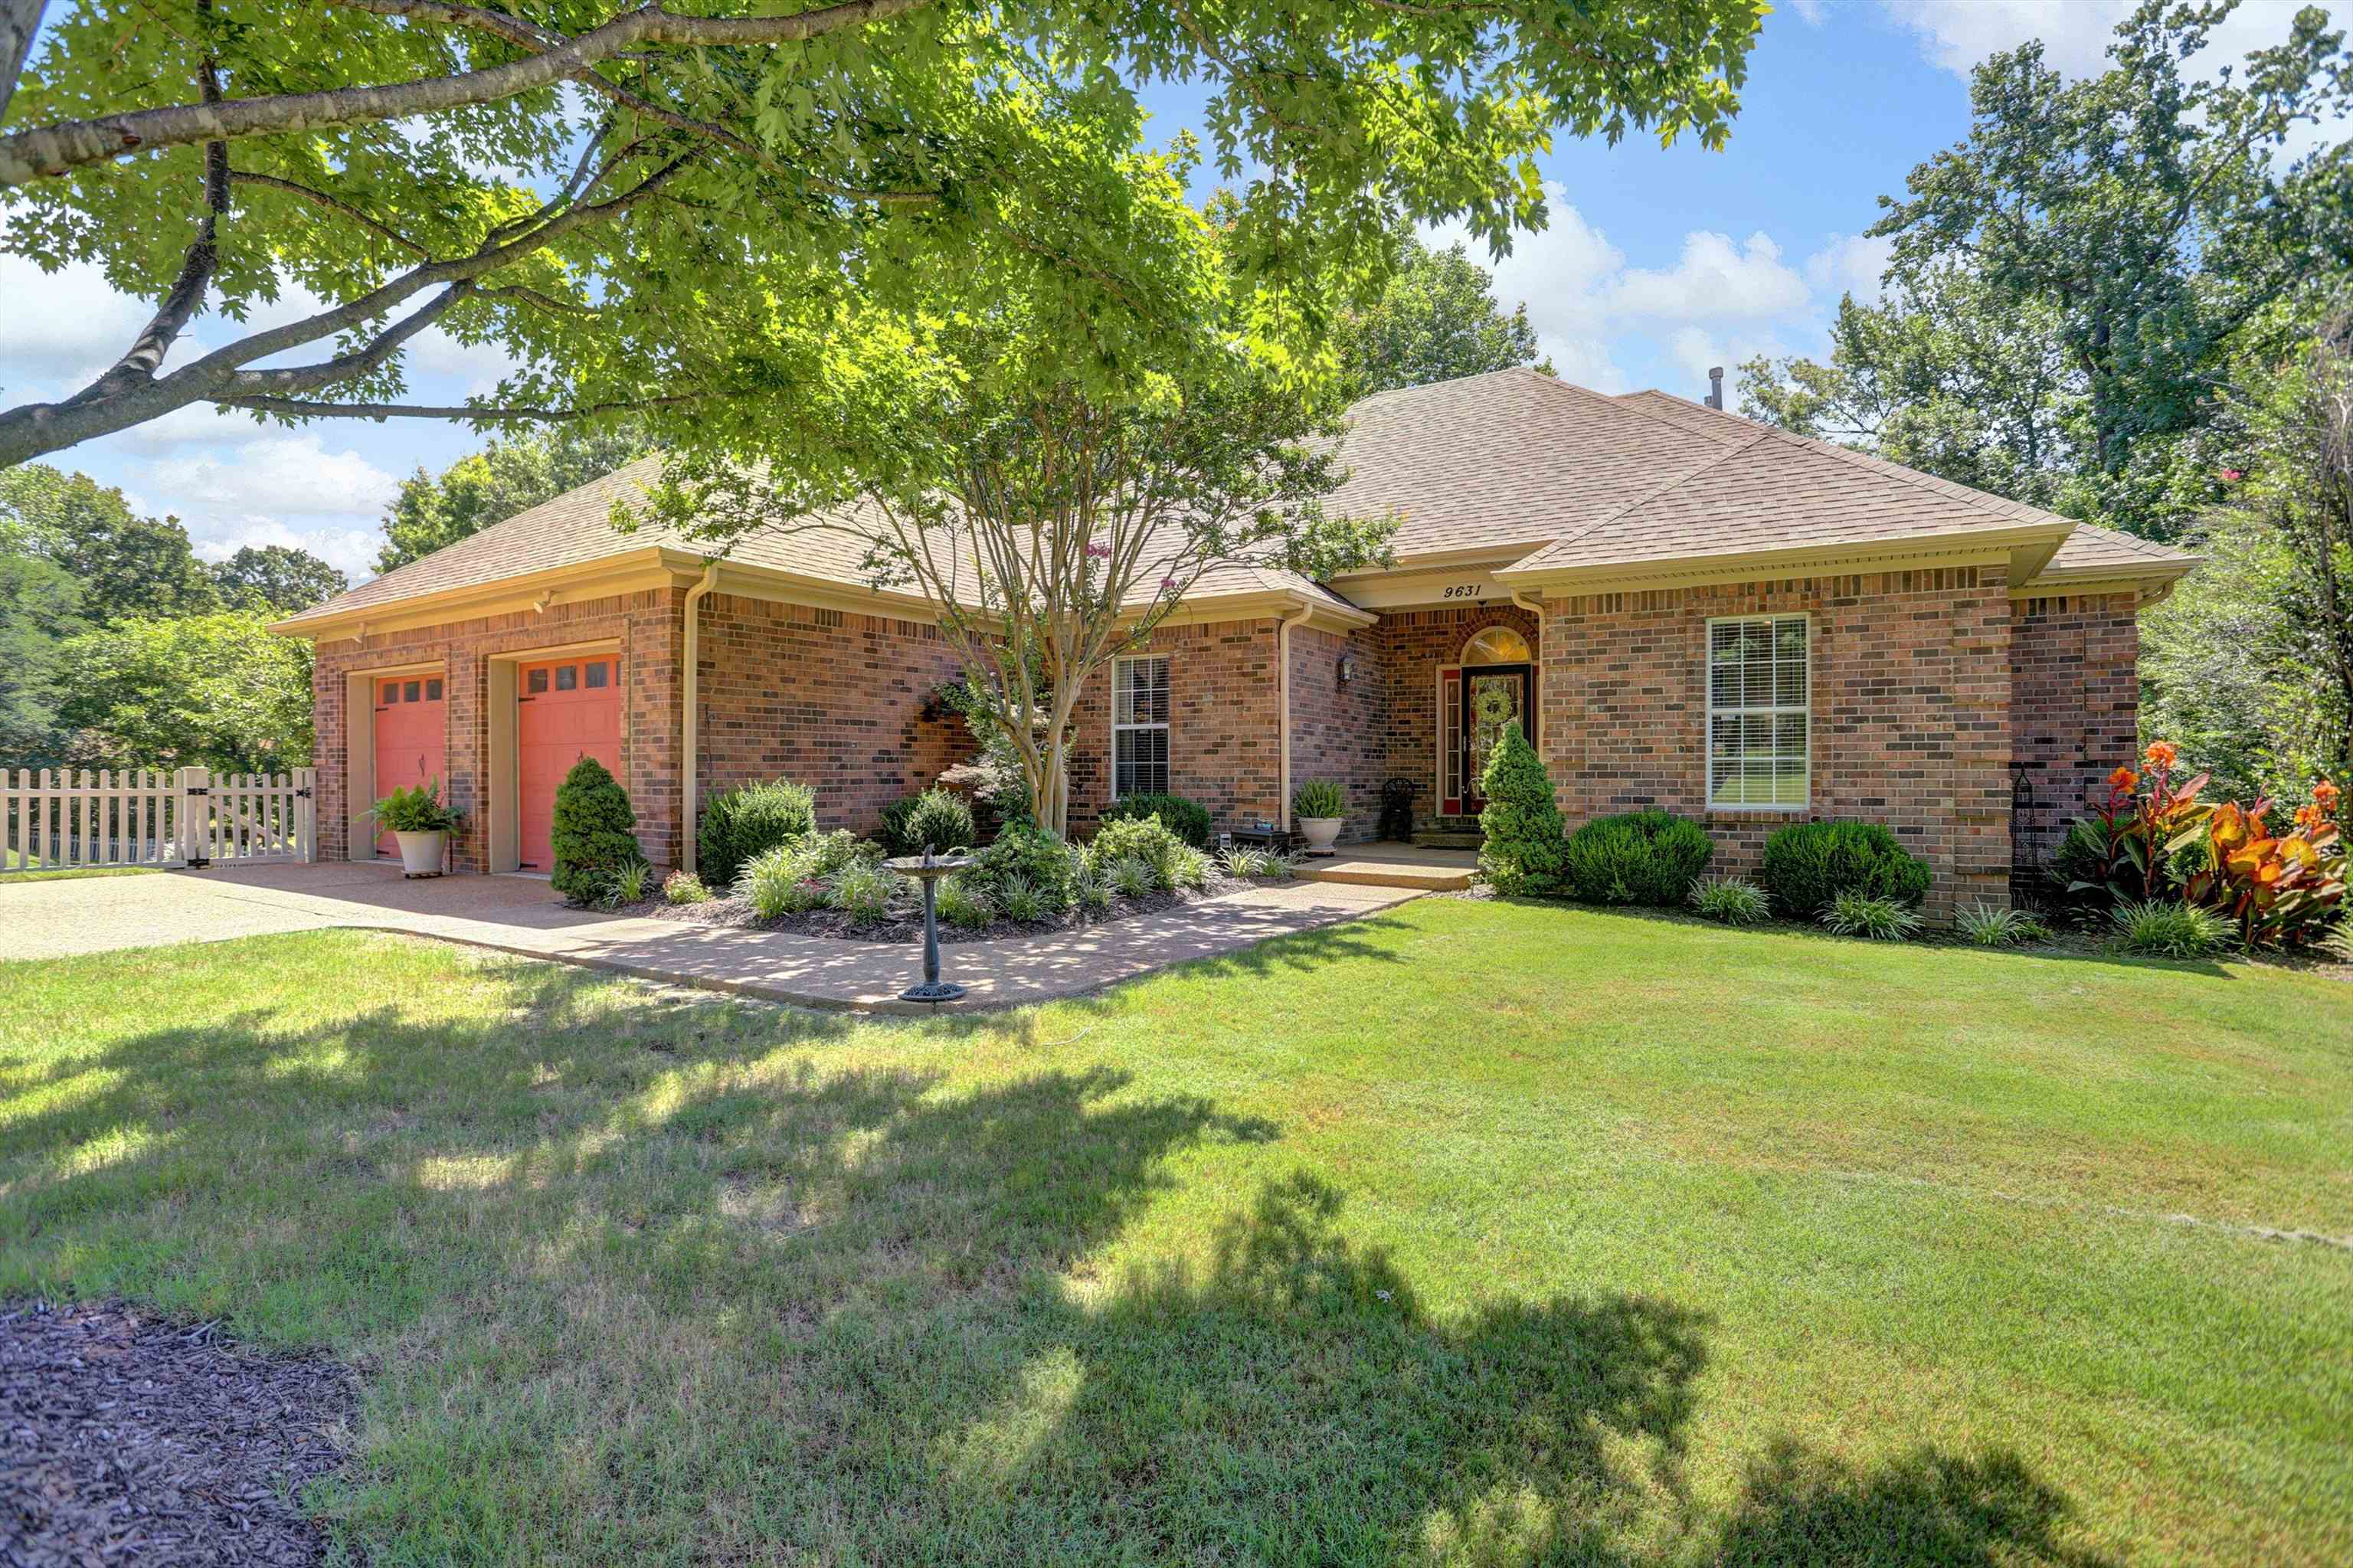
<path fill-rule="evenodd" d="M 1160 626 L 1139 650 L 1169 659 L 1169 789 L 1207 805 L 1212 829 L 1285 817 L 1275 626 Z M 1111 669 L 1071 713 L 1071 833 L 1085 836 L 1111 805 Z"/>

